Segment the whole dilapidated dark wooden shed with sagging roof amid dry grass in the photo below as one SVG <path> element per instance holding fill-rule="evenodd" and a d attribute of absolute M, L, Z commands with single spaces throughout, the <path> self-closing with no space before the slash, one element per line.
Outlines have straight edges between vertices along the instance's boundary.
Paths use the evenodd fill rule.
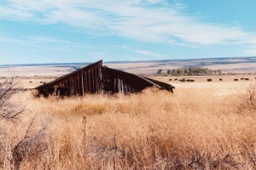
<path fill-rule="evenodd" d="M 39 95 L 47 97 L 49 94 L 61 96 L 96 93 L 133 94 L 148 87 L 166 89 L 170 92 L 173 92 L 174 88 L 165 82 L 102 66 L 102 60 L 100 60 L 35 89 L 38 90 Z"/>

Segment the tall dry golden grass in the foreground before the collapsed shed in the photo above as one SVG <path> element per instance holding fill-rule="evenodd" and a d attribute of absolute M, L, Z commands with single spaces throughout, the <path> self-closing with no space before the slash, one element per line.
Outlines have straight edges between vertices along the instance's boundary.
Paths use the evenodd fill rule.
<path fill-rule="evenodd" d="M 52 119 L 47 149 L 25 157 L 20 168 L 254 169 L 255 110 L 247 90 L 224 89 L 179 87 L 170 94 L 151 88 L 65 99 L 17 94 L 14 100 L 38 121 Z"/>

